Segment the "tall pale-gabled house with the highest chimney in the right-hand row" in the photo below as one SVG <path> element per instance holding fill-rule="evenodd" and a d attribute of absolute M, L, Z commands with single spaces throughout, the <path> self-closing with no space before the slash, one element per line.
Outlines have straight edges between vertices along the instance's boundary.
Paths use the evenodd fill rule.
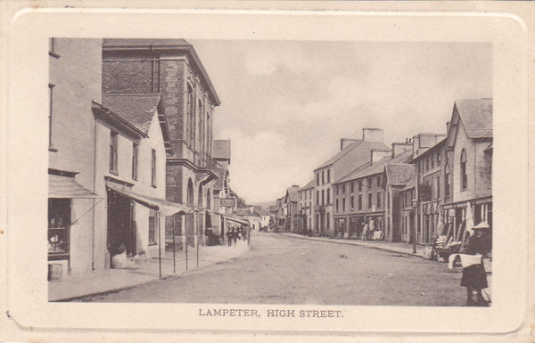
<path fill-rule="evenodd" d="M 334 234 L 333 183 L 370 159 L 371 151 L 388 151 L 383 143 L 383 130 L 363 128 L 362 139 L 345 139 L 340 151 L 314 170 L 314 231 L 320 235 Z"/>

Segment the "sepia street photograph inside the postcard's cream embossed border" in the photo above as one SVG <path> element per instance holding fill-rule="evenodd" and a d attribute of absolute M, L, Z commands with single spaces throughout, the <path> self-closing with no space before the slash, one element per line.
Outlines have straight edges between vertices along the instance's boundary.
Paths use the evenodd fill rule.
<path fill-rule="evenodd" d="M 49 300 L 491 305 L 490 44 L 48 54 Z"/>

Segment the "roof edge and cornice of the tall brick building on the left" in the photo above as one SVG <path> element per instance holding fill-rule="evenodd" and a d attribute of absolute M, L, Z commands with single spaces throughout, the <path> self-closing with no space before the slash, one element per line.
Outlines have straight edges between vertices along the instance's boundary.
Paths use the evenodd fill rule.
<path fill-rule="evenodd" d="M 202 79 L 206 86 L 210 89 L 210 96 L 215 102 L 215 105 L 218 106 L 221 104 L 221 101 L 219 100 L 218 94 L 216 93 L 216 89 L 211 83 L 210 77 L 208 76 L 208 73 L 206 72 L 206 69 L 204 69 L 204 66 L 202 66 L 201 59 L 195 52 L 195 49 L 193 48 L 193 45 L 191 45 L 188 41 L 185 39 L 137 39 L 137 38 L 129 38 L 129 39 L 123 39 L 123 38 L 105 38 L 103 39 L 103 51 L 110 51 L 110 50 L 122 50 L 122 51 L 128 51 L 128 50 L 148 50 L 156 51 L 156 50 L 183 50 L 186 53 L 189 53 L 189 55 L 192 57 L 194 61 L 194 66 L 196 69 L 199 70 L 199 72 L 202 74 Z"/>

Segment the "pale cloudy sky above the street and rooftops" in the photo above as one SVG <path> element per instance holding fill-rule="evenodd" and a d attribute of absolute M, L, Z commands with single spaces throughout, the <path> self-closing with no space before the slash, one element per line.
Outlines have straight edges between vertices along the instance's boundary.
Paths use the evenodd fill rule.
<path fill-rule="evenodd" d="M 231 188 L 248 203 L 308 184 L 363 127 L 389 145 L 445 134 L 455 100 L 492 97 L 488 43 L 188 41 L 221 100 L 214 139 L 231 140 Z"/>

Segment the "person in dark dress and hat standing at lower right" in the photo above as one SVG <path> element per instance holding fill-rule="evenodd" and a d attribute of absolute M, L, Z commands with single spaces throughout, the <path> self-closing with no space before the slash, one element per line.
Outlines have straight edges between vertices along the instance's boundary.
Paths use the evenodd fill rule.
<path fill-rule="evenodd" d="M 468 233 L 469 237 L 465 241 L 465 246 L 460 251 L 461 254 L 472 255 L 476 259 L 476 263 L 471 265 L 465 263 L 463 265 L 461 286 L 466 287 L 466 306 L 489 306 L 489 301 L 483 298 L 481 294 L 481 290 L 489 287 L 487 273 L 483 265 L 483 256 L 490 250 L 489 240 L 486 239 L 489 237 L 487 235 L 488 228 L 489 225 L 484 222 L 474 226 L 471 230 L 472 233 Z M 477 293 L 477 300 L 475 301 L 473 300 L 473 290 Z"/>

